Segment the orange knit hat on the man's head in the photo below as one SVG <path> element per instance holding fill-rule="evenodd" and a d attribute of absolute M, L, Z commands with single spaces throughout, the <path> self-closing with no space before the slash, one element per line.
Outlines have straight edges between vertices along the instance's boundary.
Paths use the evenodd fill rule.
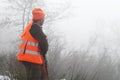
<path fill-rule="evenodd" d="M 33 9 L 33 11 L 32 11 L 32 15 L 33 15 L 33 18 L 32 18 L 33 20 L 39 20 L 39 19 L 44 18 L 45 13 L 43 12 L 42 9 L 40 9 L 40 8 L 35 8 L 35 9 Z"/>

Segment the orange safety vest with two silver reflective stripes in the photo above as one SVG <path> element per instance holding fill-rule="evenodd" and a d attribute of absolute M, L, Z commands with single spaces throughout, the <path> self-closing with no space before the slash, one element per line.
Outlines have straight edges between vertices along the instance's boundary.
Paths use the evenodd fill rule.
<path fill-rule="evenodd" d="M 36 64 L 43 64 L 43 58 L 38 48 L 38 40 L 32 37 L 29 30 L 32 26 L 30 22 L 21 36 L 20 51 L 18 52 L 18 61 L 26 61 Z"/>

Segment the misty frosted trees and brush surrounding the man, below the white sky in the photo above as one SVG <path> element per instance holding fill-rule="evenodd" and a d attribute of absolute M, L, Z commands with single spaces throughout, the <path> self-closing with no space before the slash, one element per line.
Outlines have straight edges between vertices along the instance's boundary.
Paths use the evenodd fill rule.
<path fill-rule="evenodd" d="M 25 68 L 17 61 L 17 52 L 20 35 L 31 21 L 31 11 L 36 6 L 43 8 L 47 14 L 44 32 L 49 43 L 49 80 L 120 80 L 120 24 L 117 24 L 120 22 L 108 26 L 104 25 L 104 20 L 97 20 L 96 26 L 107 26 L 112 37 L 107 41 L 105 36 L 92 34 L 86 44 L 80 43 L 74 47 L 55 24 L 73 17 L 70 16 L 70 1 L 61 0 L 55 7 L 47 5 L 45 1 L 1 0 L 0 76 L 7 78 L 0 77 L 0 80 L 26 80 Z"/>

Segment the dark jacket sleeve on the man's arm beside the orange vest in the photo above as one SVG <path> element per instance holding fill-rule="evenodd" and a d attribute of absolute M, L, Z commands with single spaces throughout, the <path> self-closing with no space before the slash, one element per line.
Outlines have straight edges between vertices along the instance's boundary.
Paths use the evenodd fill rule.
<path fill-rule="evenodd" d="M 39 48 L 42 51 L 43 55 L 45 55 L 48 51 L 48 41 L 46 35 L 43 33 L 42 28 L 38 25 L 33 24 L 30 29 L 30 34 L 39 41 Z"/>

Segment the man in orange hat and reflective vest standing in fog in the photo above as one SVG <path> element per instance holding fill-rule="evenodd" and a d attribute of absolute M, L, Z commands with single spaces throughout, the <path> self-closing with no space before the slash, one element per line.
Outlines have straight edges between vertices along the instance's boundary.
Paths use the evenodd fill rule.
<path fill-rule="evenodd" d="M 48 51 L 46 35 L 42 31 L 45 13 L 40 8 L 35 8 L 32 15 L 32 22 L 26 26 L 21 36 L 18 61 L 26 68 L 27 80 L 43 80 L 45 55 Z"/>

